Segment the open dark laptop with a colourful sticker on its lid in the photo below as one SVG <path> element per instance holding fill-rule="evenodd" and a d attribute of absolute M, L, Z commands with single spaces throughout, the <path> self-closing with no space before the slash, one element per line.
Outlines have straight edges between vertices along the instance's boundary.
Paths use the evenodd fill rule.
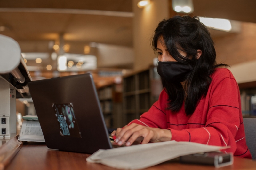
<path fill-rule="evenodd" d="M 28 86 L 48 148 L 90 154 L 112 148 L 91 74 Z"/>

